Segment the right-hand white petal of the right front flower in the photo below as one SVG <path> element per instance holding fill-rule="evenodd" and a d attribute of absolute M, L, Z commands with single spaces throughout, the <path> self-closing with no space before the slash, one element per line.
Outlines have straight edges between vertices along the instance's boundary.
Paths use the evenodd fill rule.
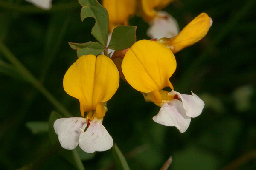
<path fill-rule="evenodd" d="M 192 95 L 180 94 L 177 91 L 171 91 L 169 95 L 177 94 L 182 101 L 183 107 L 186 110 L 186 116 L 197 117 L 204 108 L 204 101 L 200 99 L 196 94 L 191 92 Z"/>

